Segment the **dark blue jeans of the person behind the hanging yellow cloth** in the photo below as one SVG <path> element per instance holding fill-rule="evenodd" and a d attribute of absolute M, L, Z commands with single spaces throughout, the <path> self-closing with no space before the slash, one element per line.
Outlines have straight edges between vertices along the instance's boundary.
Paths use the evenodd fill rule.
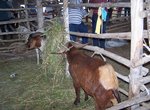
<path fill-rule="evenodd" d="M 92 33 L 95 33 L 97 17 L 98 17 L 97 14 L 93 14 L 92 16 Z M 103 22 L 103 33 L 106 33 L 106 22 Z M 93 38 L 93 45 L 105 48 L 105 39 Z"/>

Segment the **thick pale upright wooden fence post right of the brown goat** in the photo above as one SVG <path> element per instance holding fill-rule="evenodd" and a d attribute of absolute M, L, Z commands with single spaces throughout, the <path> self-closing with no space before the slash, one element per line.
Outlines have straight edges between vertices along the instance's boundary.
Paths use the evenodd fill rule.
<path fill-rule="evenodd" d="M 141 59 L 143 54 L 143 19 L 140 17 L 140 12 L 143 11 L 143 0 L 131 0 L 131 63 Z M 130 84 L 129 84 L 129 99 L 137 96 L 140 93 L 140 83 L 138 78 L 141 77 L 142 66 L 130 67 Z M 141 97 L 142 98 L 142 97 Z M 140 99 L 138 99 L 140 100 Z M 136 103 L 135 103 L 136 104 Z M 131 110 L 138 108 L 138 103 L 131 107 Z"/>

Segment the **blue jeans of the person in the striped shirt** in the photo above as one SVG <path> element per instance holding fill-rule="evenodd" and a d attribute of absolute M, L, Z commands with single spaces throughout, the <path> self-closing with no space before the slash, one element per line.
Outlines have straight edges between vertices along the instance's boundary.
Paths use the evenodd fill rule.
<path fill-rule="evenodd" d="M 88 33 L 88 28 L 83 22 L 81 24 L 69 24 L 69 29 L 72 32 Z M 76 41 L 76 36 L 70 35 L 70 40 Z M 88 43 L 88 38 L 83 36 L 82 43 Z"/>

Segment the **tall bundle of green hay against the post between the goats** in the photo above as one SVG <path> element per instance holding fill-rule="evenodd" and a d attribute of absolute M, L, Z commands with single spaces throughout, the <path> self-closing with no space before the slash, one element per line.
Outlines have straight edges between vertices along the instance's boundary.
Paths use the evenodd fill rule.
<path fill-rule="evenodd" d="M 57 76 L 64 76 L 65 61 L 62 55 L 51 54 L 58 52 L 59 48 L 65 42 L 65 32 L 60 19 L 54 19 L 52 25 L 48 26 L 45 32 L 47 43 L 43 55 L 42 68 L 47 78 L 53 78 L 55 84 L 62 79 L 57 79 Z"/>

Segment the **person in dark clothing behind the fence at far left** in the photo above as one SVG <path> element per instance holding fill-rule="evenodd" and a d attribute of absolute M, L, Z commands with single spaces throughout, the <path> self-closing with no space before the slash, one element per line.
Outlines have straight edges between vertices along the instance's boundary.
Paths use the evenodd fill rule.
<path fill-rule="evenodd" d="M 1 9 L 10 9 L 12 4 L 8 0 L 0 0 Z M 14 15 L 11 11 L 0 11 L 0 21 L 9 21 L 14 19 Z M 1 32 L 12 32 L 12 24 L 2 24 L 0 25 Z M 3 39 L 6 39 L 6 36 L 3 36 Z"/>

